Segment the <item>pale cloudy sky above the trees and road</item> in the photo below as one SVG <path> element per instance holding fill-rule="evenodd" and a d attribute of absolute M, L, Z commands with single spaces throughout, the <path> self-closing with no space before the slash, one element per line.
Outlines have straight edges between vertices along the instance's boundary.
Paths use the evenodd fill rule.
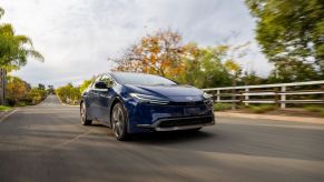
<path fill-rule="evenodd" d="M 254 40 L 255 22 L 243 0 L 0 0 L 10 22 L 26 34 L 45 62 L 29 59 L 12 74 L 36 85 L 81 83 L 109 71 L 131 43 L 160 29 L 183 36 L 183 42 L 217 46 L 251 41 L 238 63 L 267 75 L 272 65 Z"/>

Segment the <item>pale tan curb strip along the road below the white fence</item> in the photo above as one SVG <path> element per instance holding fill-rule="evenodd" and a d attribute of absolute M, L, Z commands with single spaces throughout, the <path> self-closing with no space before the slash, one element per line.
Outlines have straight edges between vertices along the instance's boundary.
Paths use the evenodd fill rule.
<path fill-rule="evenodd" d="M 293 122 L 324 124 L 324 119 L 321 119 L 321 118 L 267 115 L 267 114 L 251 114 L 251 113 L 230 113 L 230 112 L 214 112 L 214 113 L 216 117 L 264 119 L 264 120 L 275 120 L 275 121 L 293 121 Z"/>

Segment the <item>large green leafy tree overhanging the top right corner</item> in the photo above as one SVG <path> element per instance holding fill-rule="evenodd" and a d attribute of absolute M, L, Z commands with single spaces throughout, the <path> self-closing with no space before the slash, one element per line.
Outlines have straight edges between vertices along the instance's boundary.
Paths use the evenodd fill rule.
<path fill-rule="evenodd" d="M 291 73 L 310 72 L 304 77 L 316 79 L 317 71 L 324 78 L 323 0 L 246 0 L 246 4 L 256 18 L 256 40 L 276 68 L 289 60 L 298 69 Z"/>

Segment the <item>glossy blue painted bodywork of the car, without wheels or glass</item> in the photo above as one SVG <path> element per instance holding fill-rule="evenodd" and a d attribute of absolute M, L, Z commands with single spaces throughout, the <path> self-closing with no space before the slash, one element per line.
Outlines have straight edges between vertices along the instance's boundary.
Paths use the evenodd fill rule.
<path fill-rule="evenodd" d="M 114 73 L 107 73 L 114 79 Z M 86 103 L 87 118 L 97 120 L 107 127 L 111 127 L 110 115 L 116 102 L 121 102 L 127 112 L 128 133 L 151 132 L 151 129 L 139 128 L 138 124 L 150 125 L 159 119 L 184 118 L 196 115 L 210 115 L 214 120 L 213 105 L 204 103 L 203 91 L 189 85 L 134 85 L 120 84 L 115 80 L 115 85 L 107 90 L 96 90 L 88 88 L 82 93 L 82 102 Z M 155 95 L 174 103 L 188 102 L 186 97 L 190 97 L 193 102 L 202 102 L 199 112 L 195 114 L 185 113 L 190 105 L 163 105 L 150 104 L 138 101 L 130 97 L 130 93 Z"/>

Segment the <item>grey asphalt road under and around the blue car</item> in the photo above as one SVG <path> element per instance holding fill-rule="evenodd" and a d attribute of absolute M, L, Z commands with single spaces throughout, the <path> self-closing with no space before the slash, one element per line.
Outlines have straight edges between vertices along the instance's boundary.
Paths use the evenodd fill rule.
<path fill-rule="evenodd" d="M 324 124 L 217 122 L 119 142 L 49 97 L 0 123 L 0 181 L 324 181 Z"/>

